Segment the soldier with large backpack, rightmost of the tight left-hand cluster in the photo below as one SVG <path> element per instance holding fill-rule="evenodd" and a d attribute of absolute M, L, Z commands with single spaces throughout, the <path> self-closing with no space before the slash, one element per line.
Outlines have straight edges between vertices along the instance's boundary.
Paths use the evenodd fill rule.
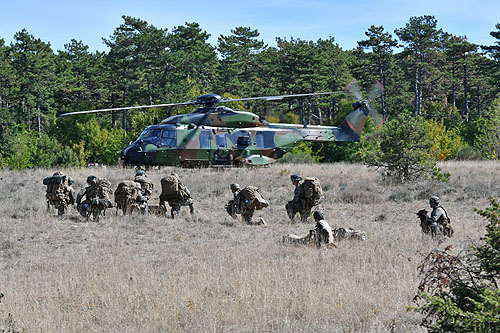
<path fill-rule="evenodd" d="M 160 195 L 160 207 L 167 209 L 168 202 L 172 209 L 170 215 L 174 218 L 179 215 L 182 206 L 189 206 L 189 212 L 194 214 L 193 198 L 189 189 L 179 180 L 179 175 L 171 173 L 161 180 L 162 192 Z"/>

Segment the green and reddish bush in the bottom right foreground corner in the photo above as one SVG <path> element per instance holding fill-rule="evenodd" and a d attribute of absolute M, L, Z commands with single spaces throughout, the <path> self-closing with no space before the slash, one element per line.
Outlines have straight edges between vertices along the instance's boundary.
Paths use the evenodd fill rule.
<path fill-rule="evenodd" d="M 431 332 L 498 332 L 500 330 L 500 204 L 475 209 L 488 220 L 482 244 L 467 257 L 435 250 L 419 267 L 423 277 L 410 307 L 425 315 L 422 325 Z M 467 259 L 466 259 L 467 258 Z"/>

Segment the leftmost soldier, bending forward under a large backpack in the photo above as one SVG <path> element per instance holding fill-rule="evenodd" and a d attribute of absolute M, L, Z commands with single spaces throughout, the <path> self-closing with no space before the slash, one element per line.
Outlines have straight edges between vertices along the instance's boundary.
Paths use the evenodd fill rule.
<path fill-rule="evenodd" d="M 64 215 L 68 206 L 75 203 L 75 190 L 71 187 L 73 179 L 62 172 L 56 172 L 52 177 L 45 178 L 43 184 L 47 186 L 47 211 L 53 206 L 58 215 Z"/>

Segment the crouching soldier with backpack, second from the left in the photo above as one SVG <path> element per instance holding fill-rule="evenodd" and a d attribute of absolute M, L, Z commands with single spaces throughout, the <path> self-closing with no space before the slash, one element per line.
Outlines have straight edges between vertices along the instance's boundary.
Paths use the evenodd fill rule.
<path fill-rule="evenodd" d="M 88 176 L 87 184 L 76 196 L 76 208 L 83 217 L 89 219 L 92 215 L 94 221 L 99 221 L 100 216 L 106 215 L 106 209 L 113 207 L 111 183 L 107 179 Z"/>

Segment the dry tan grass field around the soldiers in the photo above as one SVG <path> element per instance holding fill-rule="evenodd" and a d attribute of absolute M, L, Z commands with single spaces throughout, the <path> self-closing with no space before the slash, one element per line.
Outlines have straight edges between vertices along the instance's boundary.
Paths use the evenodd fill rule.
<path fill-rule="evenodd" d="M 384 184 L 363 165 L 276 164 L 260 169 L 175 169 L 195 198 L 195 218 L 115 216 L 86 222 L 46 213 L 44 177 L 55 170 L 0 170 L 0 330 L 28 332 L 418 332 L 408 312 L 417 266 L 433 248 L 468 248 L 484 234 L 474 207 L 500 196 L 500 164 L 452 162 L 448 183 Z M 158 203 L 160 179 L 148 172 Z M 69 169 L 78 191 L 89 174 L 119 181 L 133 170 Z M 366 231 L 335 249 L 282 245 L 291 224 L 290 173 L 320 178 L 332 227 Z M 233 221 L 229 184 L 256 185 L 267 227 Z M 455 235 L 438 244 L 415 213 L 441 197 Z"/>

